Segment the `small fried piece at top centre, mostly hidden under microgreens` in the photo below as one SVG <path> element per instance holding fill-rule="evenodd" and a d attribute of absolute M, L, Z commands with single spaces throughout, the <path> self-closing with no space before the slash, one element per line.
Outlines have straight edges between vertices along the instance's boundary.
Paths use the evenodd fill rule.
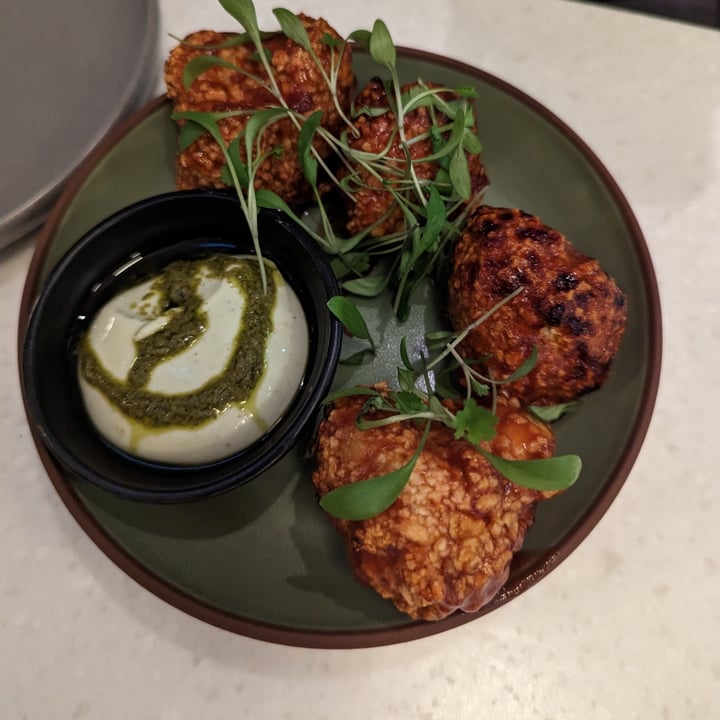
<path fill-rule="evenodd" d="M 428 86 L 432 87 L 431 84 Z M 411 87 L 413 85 L 405 85 L 402 91 L 405 92 Z M 378 78 L 372 79 L 355 99 L 354 105 L 358 110 L 363 107 L 387 108 L 388 100 L 382 82 Z M 439 114 L 438 122 L 442 122 L 444 117 Z M 447 120 L 447 118 L 445 119 Z M 431 125 L 432 121 L 427 108 L 421 107 L 410 111 L 404 122 L 407 140 L 427 133 Z M 368 153 L 379 153 L 390 143 L 392 134 L 397 130 L 397 120 L 395 115 L 388 110 L 377 117 L 360 115 L 355 120 L 355 126 L 359 136 L 355 138 L 348 136 L 350 147 Z M 410 143 L 410 156 L 413 160 L 420 160 L 432 153 L 433 147 L 430 138 Z M 398 137 L 392 142 L 388 157 L 397 158 L 400 168 L 406 164 L 405 154 Z M 478 155 L 468 155 L 468 166 L 474 195 L 479 193 L 488 184 L 488 181 L 485 168 Z M 421 180 L 434 178 L 438 169 L 439 166 L 436 162 L 415 163 L 416 175 Z M 383 187 L 378 178 L 370 173 L 360 170 L 358 176 L 364 187 L 360 187 L 354 192 L 355 202 L 349 203 L 347 229 L 350 234 L 355 235 L 375 223 L 377 225 L 371 231 L 371 235 L 374 237 L 402 230 L 404 216 L 392 194 Z"/>

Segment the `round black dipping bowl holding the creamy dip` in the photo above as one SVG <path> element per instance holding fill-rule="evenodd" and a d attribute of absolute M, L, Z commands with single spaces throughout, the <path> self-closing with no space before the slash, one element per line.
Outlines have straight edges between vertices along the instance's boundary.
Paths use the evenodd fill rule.
<path fill-rule="evenodd" d="M 207 497 L 256 478 L 285 455 L 314 422 L 340 354 L 342 328 L 326 303 L 338 286 L 323 252 L 285 214 L 261 210 L 263 257 L 297 294 L 309 337 L 301 388 L 259 440 L 204 465 L 144 461 L 95 430 L 77 380 L 78 338 L 113 295 L 168 263 L 214 252 L 254 253 L 237 198 L 224 192 L 172 192 L 131 205 L 84 235 L 48 275 L 23 345 L 25 405 L 48 450 L 70 471 L 127 498 L 179 502 Z"/>

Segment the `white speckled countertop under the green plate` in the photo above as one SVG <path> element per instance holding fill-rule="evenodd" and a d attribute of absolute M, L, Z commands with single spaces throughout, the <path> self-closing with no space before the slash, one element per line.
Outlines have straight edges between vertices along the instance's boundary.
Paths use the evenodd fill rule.
<path fill-rule="evenodd" d="M 720 717 L 720 33 L 563 0 L 288 5 L 343 33 L 383 17 L 398 44 L 517 85 L 597 152 L 643 228 L 663 303 L 645 445 L 579 549 L 486 617 L 368 650 L 236 636 L 125 576 L 56 496 L 18 389 L 32 238 L 20 242 L 0 251 L 0 717 Z M 214 0 L 161 9 L 163 33 L 232 27 Z"/>

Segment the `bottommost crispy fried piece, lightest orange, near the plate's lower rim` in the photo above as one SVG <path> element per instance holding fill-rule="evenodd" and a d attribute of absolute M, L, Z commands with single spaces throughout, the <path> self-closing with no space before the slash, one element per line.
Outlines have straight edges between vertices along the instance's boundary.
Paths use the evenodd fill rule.
<path fill-rule="evenodd" d="M 358 430 L 365 400 L 336 401 L 321 423 L 313 475 L 321 495 L 395 470 L 418 446 L 423 428 L 417 424 Z M 516 460 L 552 455 L 555 440 L 546 425 L 511 406 L 501 406 L 498 415 L 497 436 L 486 449 Z M 508 482 L 472 445 L 436 423 L 391 507 L 368 520 L 332 521 L 361 582 L 410 617 L 437 620 L 455 610 L 474 612 L 493 598 L 536 502 L 552 494 Z"/>

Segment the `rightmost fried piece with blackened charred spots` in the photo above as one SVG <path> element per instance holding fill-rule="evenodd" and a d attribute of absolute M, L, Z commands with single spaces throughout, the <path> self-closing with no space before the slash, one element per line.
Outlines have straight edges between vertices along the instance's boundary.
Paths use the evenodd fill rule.
<path fill-rule="evenodd" d="M 537 347 L 535 369 L 505 386 L 523 404 L 567 402 L 605 381 L 625 330 L 625 296 L 597 260 L 537 217 L 478 208 L 455 248 L 449 285 L 456 330 L 524 287 L 460 347 L 466 358 L 489 355 L 496 378 L 508 377 Z"/>

